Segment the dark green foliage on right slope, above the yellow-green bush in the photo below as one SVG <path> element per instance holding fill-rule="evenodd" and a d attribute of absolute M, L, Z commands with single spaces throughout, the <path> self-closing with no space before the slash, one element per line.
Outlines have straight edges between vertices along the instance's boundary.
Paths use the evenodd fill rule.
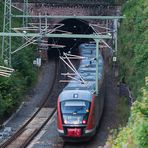
<path fill-rule="evenodd" d="M 148 2 L 127 1 L 119 32 L 120 74 L 137 96 L 148 76 Z"/>

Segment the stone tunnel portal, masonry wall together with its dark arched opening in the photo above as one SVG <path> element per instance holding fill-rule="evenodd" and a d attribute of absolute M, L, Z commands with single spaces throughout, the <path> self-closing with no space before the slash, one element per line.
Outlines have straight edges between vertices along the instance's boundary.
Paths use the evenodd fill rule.
<path fill-rule="evenodd" d="M 15 0 L 17 2 L 17 0 Z M 28 12 L 30 15 L 50 15 L 50 16 L 101 16 L 108 15 L 109 10 L 114 11 L 113 8 L 108 6 L 108 3 L 98 0 L 82 0 L 82 1 L 28 1 Z M 16 3 L 17 4 L 17 3 Z M 22 7 L 22 3 L 18 3 L 19 8 Z M 105 11 L 103 11 L 105 9 Z M 39 20 L 32 18 L 33 22 L 39 22 Z M 43 19 L 40 20 L 44 22 Z M 89 25 L 94 20 L 82 20 L 82 19 L 48 19 L 48 23 L 62 24 L 63 26 L 53 31 L 53 33 L 69 33 L 69 34 L 93 34 L 94 30 Z M 99 21 L 99 24 L 106 25 L 106 20 Z M 53 25 L 56 28 L 56 25 Z M 74 51 L 80 43 L 89 41 L 89 39 L 75 39 L 75 38 L 49 38 L 48 40 L 48 56 L 57 54 L 59 51 L 68 50 Z M 90 39 L 92 40 L 92 39 Z M 52 46 L 57 45 L 57 46 Z"/>

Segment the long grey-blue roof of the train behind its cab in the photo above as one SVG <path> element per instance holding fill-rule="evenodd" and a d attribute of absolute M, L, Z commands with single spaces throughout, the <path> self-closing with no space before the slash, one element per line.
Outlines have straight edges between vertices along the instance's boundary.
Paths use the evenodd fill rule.
<path fill-rule="evenodd" d="M 64 88 L 62 92 L 67 95 L 73 94 L 72 92 L 90 93 L 95 92 L 96 86 L 96 45 L 95 44 L 81 44 L 79 47 L 80 55 L 84 57 L 80 61 L 78 68 L 78 74 L 74 76 L 74 80 L 71 80 L 69 84 Z M 103 77 L 104 62 L 101 53 L 99 52 L 99 80 Z M 80 79 L 84 80 L 83 83 Z M 98 80 L 98 81 L 99 81 Z M 69 93 L 70 92 L 70 93 Z"/>

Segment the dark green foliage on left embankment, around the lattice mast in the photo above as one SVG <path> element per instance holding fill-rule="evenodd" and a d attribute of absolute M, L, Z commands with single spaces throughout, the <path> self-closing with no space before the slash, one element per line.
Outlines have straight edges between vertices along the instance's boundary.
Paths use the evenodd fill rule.
<path fill-rule="evenodd" d="M 13 13 L 16 10 L 13 10 Z M 3 3 L 0 3 L 0 19 L 3 20 Z M 13 20 L 12 27 L 21 26 L 22 20 Z M 3 22 L 0 21 L 0 32 Z M 1 49 L 2 38 L 0 38 Z M 22 43 L 22 39 L 12 38 L 12 50 L 15 50 Z M 7 118 L 20 103 L 24 100 L 24 93 L 36 80 L 36 69 L 32 62 L 34 59 L 33 48 L 27 47 L 12 55 L 12 67 L 15 69 L 9 78 L 0 77 L 0 123 Z M 1 65 L 3 64 L 0 59 Z"/>

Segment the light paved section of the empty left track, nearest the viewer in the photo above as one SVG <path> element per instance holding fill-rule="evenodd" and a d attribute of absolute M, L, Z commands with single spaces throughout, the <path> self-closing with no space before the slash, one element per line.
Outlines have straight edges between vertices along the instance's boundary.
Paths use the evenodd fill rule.
<path fill-rule="evenodd" d="M 42 108 L 36 117 L 24 128 L 21 128 L 12 139 L 6 141 L 2 148 L 25 148 L 51 119 L 56 109 Z"/>

